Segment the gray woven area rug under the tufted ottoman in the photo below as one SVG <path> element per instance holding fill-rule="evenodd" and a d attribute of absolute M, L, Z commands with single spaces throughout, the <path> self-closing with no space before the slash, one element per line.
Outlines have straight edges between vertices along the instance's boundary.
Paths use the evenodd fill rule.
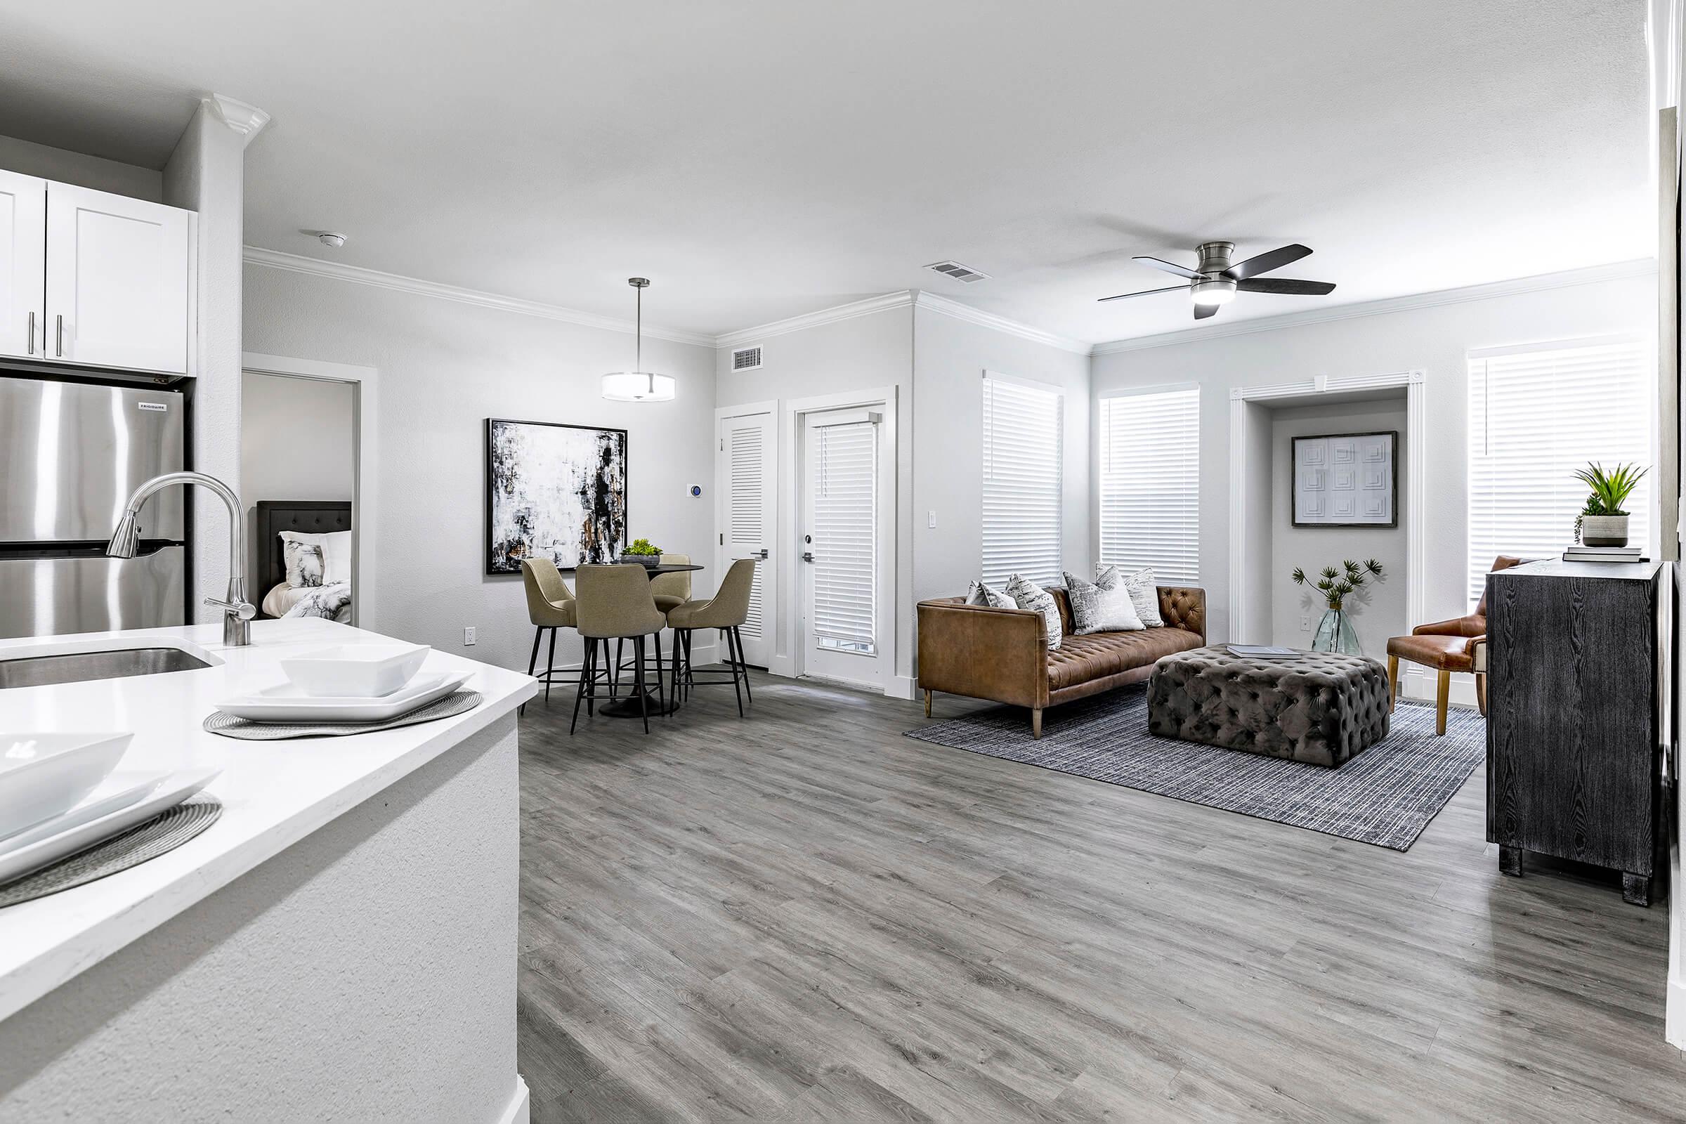
<path fill-rule="evenodd" d="M 1453 708 L 1436 738 L 1435 708 L 1403 701 L 1388 736 L 1340 768 L 1155 738 L 1145 686 L 1044 711 L 1040 741 L 1017 706 L 907 736 L 1394 851 L 1411 848 L 1487 757 L 1487 720 L 1477 711 Z"/>

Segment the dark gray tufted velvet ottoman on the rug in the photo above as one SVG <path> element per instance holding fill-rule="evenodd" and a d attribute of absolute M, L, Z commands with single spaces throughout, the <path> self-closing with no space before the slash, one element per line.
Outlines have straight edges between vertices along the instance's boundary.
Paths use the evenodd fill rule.
<path fill-rule="evenodd" d="M 1148 731 L 1332 768 L 1388 736 L 1388 671 L 1335 652 L 1177 652 L 1153 664 Z"/>

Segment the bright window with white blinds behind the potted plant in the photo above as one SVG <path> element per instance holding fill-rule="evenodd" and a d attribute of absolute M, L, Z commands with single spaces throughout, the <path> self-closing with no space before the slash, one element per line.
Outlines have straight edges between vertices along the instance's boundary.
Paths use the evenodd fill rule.
<path fill-rule="evenodd" d="M 1652 463 L 1656 418 L 1644 340 L 1470 352 L 1469 597 L 1499 554 L 1556 558 L 1575 541 L 1587 462 Z M 1627 500 L 1629 541 L 1651 531 L 1652 480 Z"/>

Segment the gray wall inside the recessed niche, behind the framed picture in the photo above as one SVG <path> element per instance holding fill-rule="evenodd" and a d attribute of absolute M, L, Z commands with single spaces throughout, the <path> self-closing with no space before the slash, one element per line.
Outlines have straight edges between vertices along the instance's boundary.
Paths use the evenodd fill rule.
<path fill-rule="evenodd" d="M 1317 590 L 1303 588 L 1288 576 L 1295 566 L 1303 566 L 1308 576 L 1324 566 L 1339 566 L 1342 559 L 1362 563 L 1374 558 L 1383 565 L 1384 580 L 1371 580 L 1359 590 L 1357 597 L 1349 597 L 1345 608 L 1357 630 L 1364 654 L 1383 659 L 1388 652 L 1388 637 L 1403 635 L 1411 630 L 1406 613 L 1406 588 L 1409 559 L 1406 553 L 1406 458 L 1409 457 L 1411 435 L 1404 425 L 1404 399 L 1383 403 L 1352 403 L 1342 406 L 1298 406 L 1271 411 L 1271 507 L 1270 514 L 1259 512 L 1270 522 L 1271 573 L 1268 585 L 1254 588 L 1268 590 L 1271 602 L 1271 635 L 1270 644 L 1286 644 L 1291 647 L 1312 647 L 1317 622 L 1322 620 L 1327 603 Z M 1399 433 L 1396 511 L 1399 526 L 1394 527 L 1295 527 L 1293 524 L 1293 438 L 1317 436 L 1324 433 L 1381 433 L 1396 430 Z M 1305 620 L 1310 627 L 1300 629 Z"/>

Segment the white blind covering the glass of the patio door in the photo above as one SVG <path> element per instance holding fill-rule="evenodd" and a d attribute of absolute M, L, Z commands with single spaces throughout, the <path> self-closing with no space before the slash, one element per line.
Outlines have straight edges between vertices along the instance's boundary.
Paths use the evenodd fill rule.
<path fill-rule="evenodd" d="M 872 421 L 819 430 L 814 482 L 814 637 L 824 647 L 872 654 L 878 618 L 878 426 Z"/>

